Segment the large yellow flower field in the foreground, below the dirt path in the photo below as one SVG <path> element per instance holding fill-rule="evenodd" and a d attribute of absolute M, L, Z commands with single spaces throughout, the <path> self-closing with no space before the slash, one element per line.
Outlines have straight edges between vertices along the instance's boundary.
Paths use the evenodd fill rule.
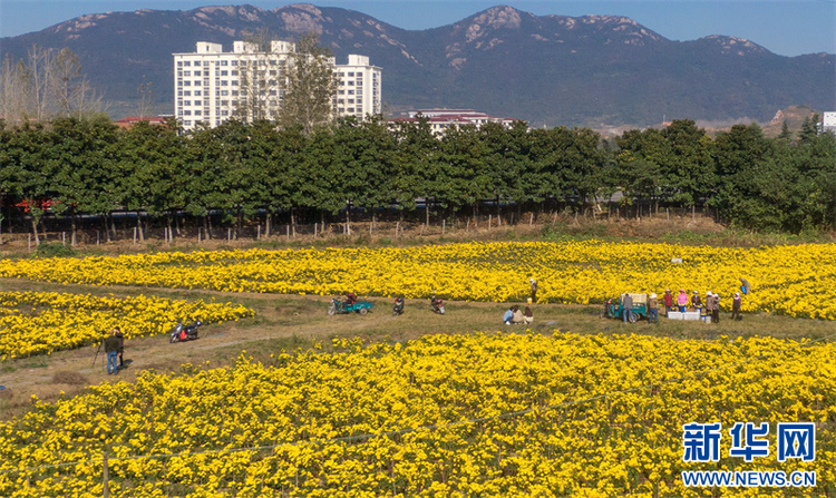
<path fill-rule="evenodd" d="M 814 492 L 793 496 L 836 492 L 833 343 L 556 332 L 336 346 L 38 402 L 0 423 L 0 494 L 101 496 L 105 452 L 114 497 L 760 496 L 684 487 L 698 469 L 815 471 Z M 816 426 L 816 460 L 779 463 L 776 426 L 799 420 Z M 768 422 L 769 457 L 729 457 L 726 436 L 718 462 L 683 462 L 692 421 Z"/>

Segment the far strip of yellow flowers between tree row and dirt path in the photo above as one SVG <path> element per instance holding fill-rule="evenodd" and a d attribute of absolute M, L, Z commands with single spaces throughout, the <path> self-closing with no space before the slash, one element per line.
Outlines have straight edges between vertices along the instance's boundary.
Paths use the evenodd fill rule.
<path fill-rule="evenodd" d="M 682 263 L 672 263 L 682 260 Z M 621 292 L 665 287 L 719 293 L 721 306 L 746 277 L 743 311 L 836 319 L 836 244 L 757 248 L 652 243 L 465 243 L 407 248 L 158 253 L 0 262 L 0 276 L 96 285 L 227 292 L 428 296 L 515 301 L 527 277 L 538 300 L 600 303 Z"/>

